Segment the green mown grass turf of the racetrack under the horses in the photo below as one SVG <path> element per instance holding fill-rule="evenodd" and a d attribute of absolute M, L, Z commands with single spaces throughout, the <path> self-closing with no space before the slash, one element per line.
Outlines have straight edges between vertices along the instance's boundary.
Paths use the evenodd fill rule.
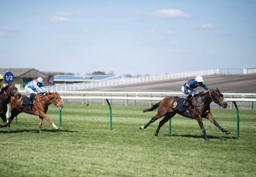
<path fill-rule="evenodd" d="M 145 106 L 66 104 L 62 127 L 43 121 L 38 133 L 36 116 L 22 113 L 13 120 L 11 133 L 1 128 L 0 176 L 5 177 L 212 177 L 256 176 L 255 110 L 239 110 L 240 138 L 236 139 L 236 110 L 213 109 L 218 123 L 231 131 L 222 133 L 208 120 L 204 140 L 196 120 L 176 115 L 155 137 L 161 119 L 148 128 L 156 111 Z M 48 116 L 58 126 L 59 111 L 50 106 Z"/>

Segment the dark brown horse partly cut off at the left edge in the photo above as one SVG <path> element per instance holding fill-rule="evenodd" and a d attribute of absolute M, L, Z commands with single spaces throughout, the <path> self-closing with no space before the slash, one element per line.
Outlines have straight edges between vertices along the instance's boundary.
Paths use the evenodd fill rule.
<path fill-rule="evenodd" d="M 20 93 L 18 92 L 18 89 L 15 87 L 14 84 L 8 84 L 7 86 L 3 87 L 2 91 L 3 93 L 0 94 L 0 117 L 2 118 L 5 125 L 0 125 L 0 128 L 7 127 L 8 125 L 6 121 L 6 112 L 10 98 L 20 98 Z"/>

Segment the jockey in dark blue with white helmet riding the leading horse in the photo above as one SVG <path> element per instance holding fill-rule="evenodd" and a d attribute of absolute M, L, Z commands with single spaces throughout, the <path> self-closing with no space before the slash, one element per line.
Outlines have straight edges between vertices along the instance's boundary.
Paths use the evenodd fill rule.
<path fill-rule="evenodd" d="M 186 97 L 186 99 L 183 101 L 183 103 L 181 104 L 181 106 L 188 106 L 187 101 L 189 100 L 189 98 L 191 98 L 192 96 L 194 96 L 195 94 L 197 94 L 197 89 L 193 90 L 195 88 L 197 88 L 199 86 L 203 87 L 206 90 L 209 90 L 210 88 L 207 87 L 206 85 L 203 84 L 204 79 L 202 76 L 197 76 L 195 77 L 195 79 L 191 79 L 188 82 L 186 82 L 182 87 L 181 87 L 181 91 L 183 92 L 183 94 L 187 94 L 188 96 Z"/>

